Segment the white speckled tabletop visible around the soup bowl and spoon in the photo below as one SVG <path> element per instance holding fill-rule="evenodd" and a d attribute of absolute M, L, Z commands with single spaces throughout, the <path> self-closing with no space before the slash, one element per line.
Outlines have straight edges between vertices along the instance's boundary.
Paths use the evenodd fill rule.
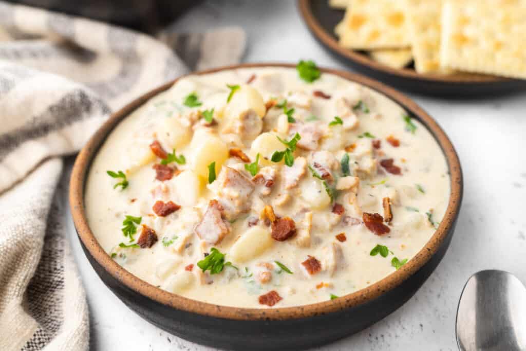
<path fill-rule="evenodd" d="M 320 66 L 346 68 L 311 37 L 292 1 L 207 1 L 174 29 L 203 31 L 226 25 L 246 30 L 245 62 L 308 58 Z M 498 268 L 526 282 L 526 94 L 469 101 L 409 95 L 437 119 L 457 148 L 464 173 L 464 200 L 456 233 L 436 271 L 408 303 L 323 350 L 457 349 L 457 303 L 471 274 Z M 65 176 L 62 189 L 67 189 L 66 183 Z M 66 195 L 64 200 L 67 203 Z M 120 302 L 89 265 L 69 212 L 65 221 L 87 292 L 92 349 L 206 349 L 149 324 Z"/>

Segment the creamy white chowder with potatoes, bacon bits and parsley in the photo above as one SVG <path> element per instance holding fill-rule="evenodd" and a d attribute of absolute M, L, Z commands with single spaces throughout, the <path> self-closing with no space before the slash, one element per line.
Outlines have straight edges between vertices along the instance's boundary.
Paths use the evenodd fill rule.
<path fill-rule="evenodd" d="M 146 282 L 227 306 L 296 306 L 395 272 L 446 210 L 428 130 L 367 87 L 262 67 L 191 75 L 108 136 L 85 205 Z"/>

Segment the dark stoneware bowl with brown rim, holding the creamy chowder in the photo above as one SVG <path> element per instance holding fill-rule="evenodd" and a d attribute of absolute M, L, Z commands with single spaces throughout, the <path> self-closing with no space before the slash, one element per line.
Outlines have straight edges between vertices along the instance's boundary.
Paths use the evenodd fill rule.
<path fill-rule="evenodd" d="M 243 64 L 211 69 L 280 66 Z M 302 349 L 351 335 L 389 315 L 405 303 L 437 267 L 451 242 L 462 200 L 462 171 L 453 145 L 438 124 L 408 97 L 372 79 L 335 69 L 321 69 L 374 89 L 400 104 L 426 126 L 446 155 L 451 194 L 439 228 L 420 252 L 402 268 L 355 293 L 317 304 L 287 308 L 236 308 L 209 304 L 161 290 L 118 265 L 98 244 L 84 209 L 86 174 L 99 147 L 113 128 L 149 98 L 168 89 L 167 83 L 129 103 L 100 127 L 77 156 L 69 187 L 73 221 L 84 252 L 103 282 L 150 323 L 199 344 L 227 349 Z"/>

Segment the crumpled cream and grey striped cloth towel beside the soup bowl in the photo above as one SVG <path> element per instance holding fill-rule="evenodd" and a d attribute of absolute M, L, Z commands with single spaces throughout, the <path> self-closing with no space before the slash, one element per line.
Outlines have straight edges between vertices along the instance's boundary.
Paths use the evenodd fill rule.
<path fill-rule="evenodd" d="M 245 48 L 239 28 L 163 38 L 171 47 L 0 2 L 0 350 L 88 348 L 86 296 L 58 220 L 61 157 L 114 109 L 189 69 L 237 63 Z"/>

